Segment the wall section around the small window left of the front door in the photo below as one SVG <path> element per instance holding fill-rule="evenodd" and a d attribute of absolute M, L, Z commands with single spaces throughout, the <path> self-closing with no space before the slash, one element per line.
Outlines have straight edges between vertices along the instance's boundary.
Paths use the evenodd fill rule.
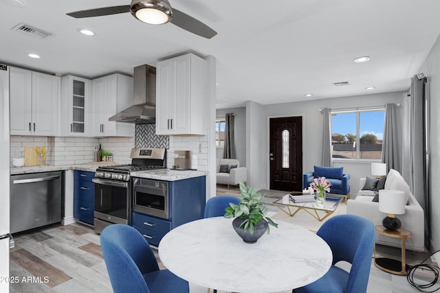
<path fill-rule="evenodd" d="M 224 118 L 226 113 L 234 113 L 234 140 L 236 158 L 241 167 L 246 167 L 246 108 L 220 109 L 216 111 L 216 119 Z M 216 149 L 217 159 L 223 158 L 223 148 Z"/>

